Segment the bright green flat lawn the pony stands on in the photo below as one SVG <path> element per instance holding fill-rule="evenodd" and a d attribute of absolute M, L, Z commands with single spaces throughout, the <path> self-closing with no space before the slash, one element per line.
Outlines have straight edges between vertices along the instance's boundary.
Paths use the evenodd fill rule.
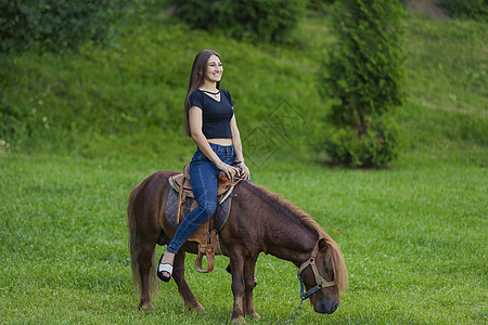
<path fill-rule="evenodd" d="M 169 164 L 170 165 L 170 164 Z M 26 323 L 224 324 L 232 308 L 227 259 L 189 283 L 206 313 L 184 312 L 174 283 L 159 288 L 156 312 L 137 309 L 125 208 L 153 166 L 59 156 L 0 159 L 0 308 Z M 174 168 L 174 167 L 169 167 Z M 306 209 L 341 245 L 349 288 L 338 311 L 306 303 L 297 324 L 486 322 L 486 168 L 439 164 L 350 171 L 288 164 L 253 178 Z M 158 248 L 158 253 L 163 252 Z M 298 300 L 293 264 L 258 260 L 261 324 L 285 321 Z"/>

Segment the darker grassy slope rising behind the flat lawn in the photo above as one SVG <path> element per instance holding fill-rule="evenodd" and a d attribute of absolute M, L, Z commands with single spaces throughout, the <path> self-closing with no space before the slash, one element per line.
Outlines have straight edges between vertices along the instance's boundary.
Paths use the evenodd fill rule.
<path fill-rule="evenodd" d="M 189 70 L 197 51 L 213 48 L 223 57 L 222 88 L 236 103 L 241 132 L 251 134 L 245 150 L 256 155 L 256 164 L 262 162 L 262 151 L 309 157 L 321 146 L 331 105 L 320 84 L 334 42 L 328 20 L 309 15 L 293 44 L 253 44 L 190 30 L 159 8 L 121 26 L 124 37 L 111 49 L 87 44 L 78 54 L 3 58 L 2 105 L 16 117 L 4 141 L 21 152 L 177 155 L 184 161 L 193 150 L 181 136 Z M 450 156 L 455 148 L 474 153 L 458 158 L 486 157 L 486 39 L 481 23 L 406 16 L 408 100 L 395 112 L 403 154 L 434 150 Z M 267 122 L 275 114 L 294 120 L 280 134 Z"/>

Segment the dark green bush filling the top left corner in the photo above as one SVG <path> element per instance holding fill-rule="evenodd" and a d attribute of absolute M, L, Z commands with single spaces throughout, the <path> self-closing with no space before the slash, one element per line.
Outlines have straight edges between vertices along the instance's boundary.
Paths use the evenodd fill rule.
<path fill-rule="evenodd" d="M 106 43 L 113 25 L 143 0 L 3 0 L 0 52 L 76 50 L 87 41 Z"/>

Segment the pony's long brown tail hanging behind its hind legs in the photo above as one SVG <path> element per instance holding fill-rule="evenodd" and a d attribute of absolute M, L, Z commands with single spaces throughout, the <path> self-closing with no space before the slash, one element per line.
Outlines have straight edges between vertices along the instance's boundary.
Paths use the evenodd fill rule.
<path fill-rule="evenodd" d="M 136 227 L 136 213 L 133 205 L 136 197 L 140 192 L 141 185 L 136 186 L 129 196 L 129 203 L 127 205 L 127 225 L 129 227 L 129 251 L 130 251 L 130 266 L 132 269 L 132 284 L 137 290 L 141 291 L 141 242 Z M 150 295 L 154 298 L 157 297 L 157 277 L 156 277 L 156 250 L 154 250 L 151 258 L 151 269 L 149 278 Z"/>

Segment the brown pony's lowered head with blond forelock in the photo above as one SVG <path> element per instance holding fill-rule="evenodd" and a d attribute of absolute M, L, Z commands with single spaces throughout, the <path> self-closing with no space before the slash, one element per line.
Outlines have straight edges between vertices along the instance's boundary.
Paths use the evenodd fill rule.
<path fill-rule="evenodd" d="M 300 277 L 307 290 L 320 282 L 325 283 L 310 296 L 310 303 L 316 312 L 332 314 L 341 303 L 339 291 L 347 286 L 346 264 L 337 244 L 328 234 L 323 234 L 316 246 L 312 253 L 314 266 L 306 266 Z"/>

